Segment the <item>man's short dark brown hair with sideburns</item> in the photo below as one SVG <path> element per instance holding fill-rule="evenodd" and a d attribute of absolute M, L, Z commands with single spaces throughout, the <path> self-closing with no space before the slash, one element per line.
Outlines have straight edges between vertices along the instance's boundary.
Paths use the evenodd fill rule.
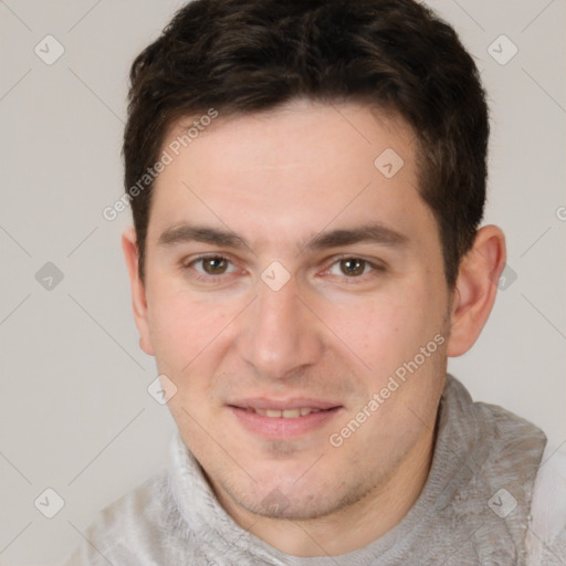
<path fill-rule="evenodd" d="M 134 61 L 125 187 L 139 245 L 151 185 L 130 189 L 182 116 L 269 111 L 298 97 L 399 114 L 419 142 L 419 191 L 439 228 L 447 282 L 483 217 L 488 106 L 454 30 L 413 0 L 195 0 Z"/>

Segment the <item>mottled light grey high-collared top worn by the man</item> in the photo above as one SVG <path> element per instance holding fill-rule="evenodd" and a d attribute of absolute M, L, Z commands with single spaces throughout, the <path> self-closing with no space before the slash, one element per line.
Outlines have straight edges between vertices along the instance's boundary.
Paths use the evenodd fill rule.
<path fill-rule="evenodd" d="M 66 566 L 564 565 L 566 517 L 543 528 L 544 517 L 531 516 L 545 444 L 535 426 L 474 403 L 448 376 L 431 470 L 409 513 L 363 548 L 301 558 L 234 523 L 177 433 L 169 469 L 105 509 Z"/>

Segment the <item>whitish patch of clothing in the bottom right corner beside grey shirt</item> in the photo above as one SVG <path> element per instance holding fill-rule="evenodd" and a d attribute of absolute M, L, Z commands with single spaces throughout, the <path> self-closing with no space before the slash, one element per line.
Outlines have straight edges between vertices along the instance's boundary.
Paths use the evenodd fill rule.
<path fill-rule="evenodd" d="M 566 454 L 547 447 L 536 474 L 526 535 L 527 566 L 566 563 Z"/>

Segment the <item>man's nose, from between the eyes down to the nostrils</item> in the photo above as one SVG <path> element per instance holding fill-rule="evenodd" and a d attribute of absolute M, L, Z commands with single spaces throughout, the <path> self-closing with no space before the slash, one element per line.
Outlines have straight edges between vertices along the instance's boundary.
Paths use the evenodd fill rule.
<path fill-rule="evenodd" d="M 238 349 L 240 357 L 264 379 L 300 375 L 323 355 L 322 324 L 298 296 L 295 279 L 279 291 L 258 282 L 258 297 L 247 310 Z"/>

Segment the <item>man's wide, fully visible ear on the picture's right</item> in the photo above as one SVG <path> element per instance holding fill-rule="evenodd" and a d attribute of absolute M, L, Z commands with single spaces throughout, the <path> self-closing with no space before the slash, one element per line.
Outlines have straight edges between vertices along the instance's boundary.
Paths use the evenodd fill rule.
<path fill-rule="evenodd" d="M 465 354 L 480 336 L 495 302 L 505 259 L 505 237 L 501 229 L 496 226 L 481 228 L 458 272 L 450 312 L 448 356 Z"/>

